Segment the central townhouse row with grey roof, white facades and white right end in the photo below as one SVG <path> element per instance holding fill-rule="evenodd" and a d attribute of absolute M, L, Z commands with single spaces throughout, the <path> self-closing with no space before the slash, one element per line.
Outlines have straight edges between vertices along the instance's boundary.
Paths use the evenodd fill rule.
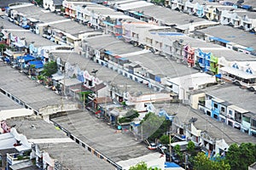
<path fill-rule="evenodd" d="M 63 83 L 68 82 L 69 77 L 73 77 L 73 75 L 83 83 L 82 86 L 69 88 L 70 91 L 73 91 L 72 96 L 74 98 L 79 99 L 76 93 L 81 91 L 91 91 L 96 94 L 95 97 L 90 97 L 90 102 L 88 102 L 90 103 L 88 106 L 93 109 L 96 109 L 101 104 L 97 100 L 106 97 L 106 95 L 113 99 L 114 103 L 122 104 L 125 102 L 126 105 L 137 111 L 145 111 L 145 104 L 148 102 L 172 99 L 169 93 L 154 93 L 150 88 L 138 82 L 133 82 L 131 79 L 129 80 L 127 77 L 119 75 L 119 72 L 110 70 L 105 65 L 98 65 L 79 54 L 51 52 L 50 59 L 56 59 L 62 75 L 66 75 L 61 77 L 62 81 L 59 80 L 62 85 L 65 85 Z M 69 74 L 69 72 L 71 73 Z M 111 74 L 113 74 L 113 79 L 110 80 L 106 75 Z M 55 77 L 53 78 L 55 79 Z"/>

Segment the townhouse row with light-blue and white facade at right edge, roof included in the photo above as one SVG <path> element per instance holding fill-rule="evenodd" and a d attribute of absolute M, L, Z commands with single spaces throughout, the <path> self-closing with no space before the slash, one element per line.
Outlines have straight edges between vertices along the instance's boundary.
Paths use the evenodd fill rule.
<path fill-rule="evenodd" d="M 237 89 L 236 86 L 230 84 L 219 86 L 224 87 L 221 87 L 222 89 L 218 89 L 219 87 L 217 87 L 215 90 L 208 90 L 206 93 L 192 94 L 197 98 L 197 100 L 194 99 L 193 101 L 198 103 L 198 107 L 195 107 L 195 109 L 203 111 L 207 116 L 211 116 L 216 121 L 223 122 L 230 127 L 239 129 L 243 133 L 255 136 L 256 114 L 253 113 L 253 110 L 246 109 L 252 108 L 251 106 L 247 107 L 247 105 L 251 105 L 250 103 L 253 102 L 253 93 L 249 92 L 249 90 L 248 92 L 244 92 L 243 89 Z M 227 95 L 219 94 L 222 91 Z M 227 98 L 230 93 L 239 95 L 241 103 L 247 101 L 247 105 L 234 105 L 235 100 Z M 243 94 L 246 94 L 246 96 Z"/>

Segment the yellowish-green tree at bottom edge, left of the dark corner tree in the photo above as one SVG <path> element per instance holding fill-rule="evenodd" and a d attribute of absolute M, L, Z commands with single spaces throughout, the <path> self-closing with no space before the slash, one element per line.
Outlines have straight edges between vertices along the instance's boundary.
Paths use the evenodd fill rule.
<path fill-rule="evenodd" d="M 195 156 L 193 164 L 195 170 L 230 170 L 230 165 L 223 159 L 217 158 L 215 161 L 211 161 L 203 152 L 199 152 Z"/>

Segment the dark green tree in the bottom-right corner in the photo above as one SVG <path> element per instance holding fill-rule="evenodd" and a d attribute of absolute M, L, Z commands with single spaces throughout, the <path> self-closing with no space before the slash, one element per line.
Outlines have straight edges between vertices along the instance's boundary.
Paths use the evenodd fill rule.
<path fill-rule="evenodd" d="M 232 170 L 246 170 L 256 161 L 256 144 L 231 144 L 225 158 Z"/>

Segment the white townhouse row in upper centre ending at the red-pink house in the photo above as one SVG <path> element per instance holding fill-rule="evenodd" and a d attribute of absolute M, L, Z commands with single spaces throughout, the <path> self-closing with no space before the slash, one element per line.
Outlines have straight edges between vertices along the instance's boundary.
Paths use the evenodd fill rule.
<path fill-rule="evenodd" d="M 142 32 L 142 26 L 148 31 Z M 150 51 L 185 61 L 190 67 L 195 65 L 195 50 L 182 40 L 182 33 L 161 31 L 164 26 L 154 26 L 147 23 L 125 23 L 123 25 L 123 37 L 125 42 L 131 42 L 134 46 L 143 47 Z M 172 41 L 169 39 L 177 40 Z"/>

